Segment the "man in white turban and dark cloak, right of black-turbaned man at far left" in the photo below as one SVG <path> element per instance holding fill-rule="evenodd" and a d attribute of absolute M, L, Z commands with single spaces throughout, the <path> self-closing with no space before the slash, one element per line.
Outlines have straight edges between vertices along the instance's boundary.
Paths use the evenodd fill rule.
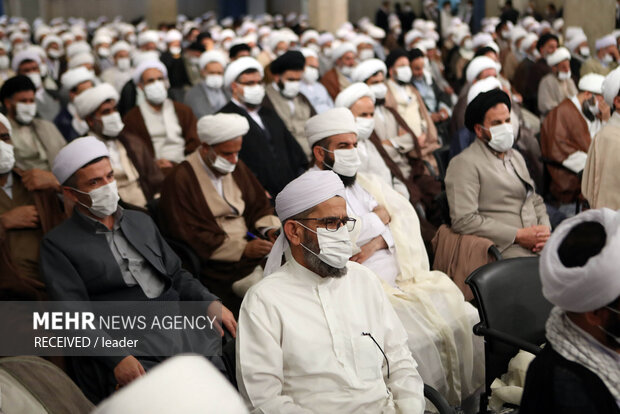
<path fill-rule="evenodd" d="M 73 101 L 80 93 L 95 86 L 94 80 L 93 73 L 83 67 L 70 69 L 61 77 L 62 88 L 69 93 L 69 102 L 56 115 L 54 124 L 67 142 L 88 132 L 88 124 L 77 114 Z"/>

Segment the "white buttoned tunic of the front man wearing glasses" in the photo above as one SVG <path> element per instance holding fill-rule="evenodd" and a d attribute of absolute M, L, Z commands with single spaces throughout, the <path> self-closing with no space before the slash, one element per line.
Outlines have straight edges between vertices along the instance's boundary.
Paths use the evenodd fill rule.
<path fill-rule="evenodd" d="M 341 278 L 322 278 L 290 259 L 246 294 L 237 382 L 254 412 L 424 411 L 407 334 L 379 280 L 357 263 L 347 268 Z"/>

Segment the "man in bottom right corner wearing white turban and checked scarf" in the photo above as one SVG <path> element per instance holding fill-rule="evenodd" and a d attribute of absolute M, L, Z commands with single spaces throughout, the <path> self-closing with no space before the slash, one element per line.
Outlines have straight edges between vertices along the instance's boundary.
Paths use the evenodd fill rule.
<path fill-rule="evenodd" d="M 530 364 L 519 412 L 620 412 L 620 216 L 589 210 L 545 246 L 540 280 L 555 307 Z"/>

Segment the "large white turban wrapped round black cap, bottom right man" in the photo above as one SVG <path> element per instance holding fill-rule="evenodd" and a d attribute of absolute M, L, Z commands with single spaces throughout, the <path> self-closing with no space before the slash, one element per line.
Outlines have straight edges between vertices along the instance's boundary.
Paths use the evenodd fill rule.
<path fill-rule="evenodd" d="M 558 249 L 577 225 L 595 221 L 603 225 L 607 240 L 599 254 L 582 267 L 565 267 Z M 603 208 L 588 210 L 560 224 L 545 244 L 540 257 L 540 279 L 547 300 L 568 312 L 599 309 L 620 296 L 620 216 Z"/>

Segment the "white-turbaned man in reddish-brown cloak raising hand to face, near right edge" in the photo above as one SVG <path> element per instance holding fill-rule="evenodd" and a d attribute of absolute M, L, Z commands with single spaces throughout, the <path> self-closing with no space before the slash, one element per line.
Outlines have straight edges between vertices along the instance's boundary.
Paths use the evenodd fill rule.
<path fill-rule="evenodd" d="M 579 81 L 579 93 L 562 101 L 542 124 L 540 146 L 549 161 L 549 191 L 560 210 L 575 214 L 575 202 L 581 194 L 579 174 L 586 165 L 588 149 L 609 119 L 609 106 L 603 100 L 602 75 L 589 73 Z"/>

